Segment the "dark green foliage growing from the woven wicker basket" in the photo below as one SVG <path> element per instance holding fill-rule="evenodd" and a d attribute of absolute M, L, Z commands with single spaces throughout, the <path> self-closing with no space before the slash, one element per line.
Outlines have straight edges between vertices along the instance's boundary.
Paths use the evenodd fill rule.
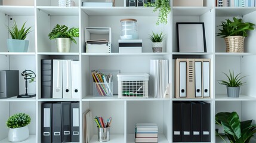
<path fill-rule="evenodd" d="M 242 19 L 233 17 L 233 21 L 226 19 L 226 21 L 221 21 L 220 32 L 217 33 L 217 36 L 222 38 L 227 36 L 243 36 L 247 37 L 248 30 L 254 30 L 255 24 L 249 22 L 243 22 Z"/>

